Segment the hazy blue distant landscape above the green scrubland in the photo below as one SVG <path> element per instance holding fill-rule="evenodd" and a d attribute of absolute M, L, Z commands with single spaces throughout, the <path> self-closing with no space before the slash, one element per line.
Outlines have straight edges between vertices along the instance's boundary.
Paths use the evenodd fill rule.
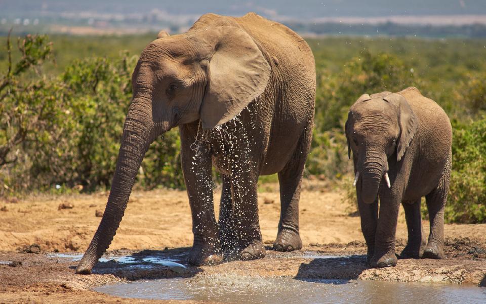
<path fill-rule="evenodd" d="M 0 1 L 0 34 L 176 33 L 208 12 L 256 12 L 304 35 L 486 37 L 486 0 Z"/>

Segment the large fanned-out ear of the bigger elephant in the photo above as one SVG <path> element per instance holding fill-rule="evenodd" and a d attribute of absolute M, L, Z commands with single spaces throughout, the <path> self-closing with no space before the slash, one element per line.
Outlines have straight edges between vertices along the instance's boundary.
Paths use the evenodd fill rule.
<path fill-rule="evenodd" d="M 265 90 L 270 65 L 252 37 L 234 26 L 200 31 L 208 44 L 208 84 L 199 111 L 204 129 L 213 129 L 237 116 Z"/>

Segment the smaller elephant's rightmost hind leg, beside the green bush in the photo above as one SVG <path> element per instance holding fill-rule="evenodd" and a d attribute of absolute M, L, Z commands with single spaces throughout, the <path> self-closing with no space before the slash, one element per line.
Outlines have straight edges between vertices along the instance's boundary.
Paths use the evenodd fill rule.
<path fill-rule="evenodd" d="M 451 157 L 449 157 L 437 187 L 425 196 L 429 211 L 430 234 L 424 258 L 444 258 L 444 209 L 449 191 L 450 174 Z"/>

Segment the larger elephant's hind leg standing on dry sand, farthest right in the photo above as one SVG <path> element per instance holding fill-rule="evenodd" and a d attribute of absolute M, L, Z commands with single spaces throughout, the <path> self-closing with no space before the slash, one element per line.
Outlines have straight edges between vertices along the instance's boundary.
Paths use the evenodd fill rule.
<path fill-rule="evenodd" d="M 278 172 L 280 184 L 280 220 L 273 242 L 277 251 L 294 251 L 302 248 L 299 235 L 299 200 L 302 174 L 312 140 L 312 123 L 301 135 L 290 162 Z"/>

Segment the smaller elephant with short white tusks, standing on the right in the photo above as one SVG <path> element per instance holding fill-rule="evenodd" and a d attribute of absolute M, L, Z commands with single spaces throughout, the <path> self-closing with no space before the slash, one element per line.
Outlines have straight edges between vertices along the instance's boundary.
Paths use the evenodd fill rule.
<path fill-rule="evenodd" d="M 346 139 L 349 158 L 353 151 L 354 185 L 370 265 L 396 265 L 400 202 L 409 235 L 400 257 L 443 258 L 452 127 L 442 108 L 414 87 L 364 94 L 349 110 Z M 427 243 L 420 214 L 422 196 L 430 217 Z"/>

